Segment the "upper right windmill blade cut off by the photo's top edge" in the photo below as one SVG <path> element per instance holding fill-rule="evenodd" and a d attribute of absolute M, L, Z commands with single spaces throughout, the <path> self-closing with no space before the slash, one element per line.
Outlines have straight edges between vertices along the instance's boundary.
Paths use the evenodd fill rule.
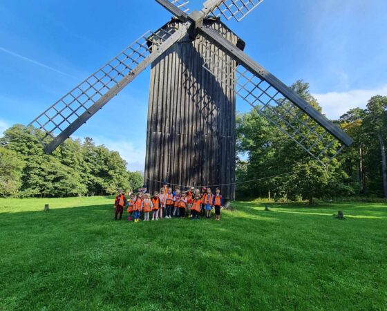
<path fill-rule="evenodd" d="M 205 1 L 202 12 L 205 17 L 212 13 L 216 17 L 225 17 L 227 21 L 232 18 L 241 21 L 262 2 L 263 0 L 208 0 Z"/>

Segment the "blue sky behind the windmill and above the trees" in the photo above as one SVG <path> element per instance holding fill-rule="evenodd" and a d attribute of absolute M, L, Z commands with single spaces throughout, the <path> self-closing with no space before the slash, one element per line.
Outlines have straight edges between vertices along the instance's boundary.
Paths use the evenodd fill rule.
<path fill-rule="evenodd" d="M 386 12 L 385 0 L 265 0 L 227 25 L 246 41 L 245 52 L 283 82 L 309 82 L 323 112 L 337 118 L 372 95 L 387 95 Z M 11 124 L 28 124 L 170 17 L 153 0 L 1 1 L 0 134 Z M 75 137 L 91 136 L 120 151 L 129 169 L 142 170 L 148 90 L 149 70 Z"/>

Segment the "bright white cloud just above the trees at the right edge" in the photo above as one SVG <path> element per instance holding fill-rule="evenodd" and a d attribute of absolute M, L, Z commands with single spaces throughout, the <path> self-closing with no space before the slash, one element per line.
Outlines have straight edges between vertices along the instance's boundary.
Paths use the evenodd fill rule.
<path fill-rule="evenodd" d="M 347 92 L 329 92 L 313 94 L 323 107 L 323 113 L 332 120 L 337 120 L 348 110 L 356 107 L 366 108 L 368 100 L 375 95 L 387 95 L 387 85 L 371 90 L 351 90 Z"/>

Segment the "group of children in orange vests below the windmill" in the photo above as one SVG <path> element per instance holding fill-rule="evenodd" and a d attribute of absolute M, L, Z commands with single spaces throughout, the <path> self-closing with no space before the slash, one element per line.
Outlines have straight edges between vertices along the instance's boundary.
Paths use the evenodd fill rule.
<path fill-rule="evenodd" d="M 223 198 L 220 189 L 216 188 L 215 194 L 212 194 L 210 188 L 203 187 L 200 193 L 199 189 L 190 187 L 188 191 L 180 191 L 176 187 L 172 189 L 163 182 L 160 191 L 155 191 L 153 196 L 147 193 L 147 187 L 138 189 L 138 194 L 131 194 L 129 200 L 126 200 L 122 191 L 115 198 L 115 220 L 119 216 L 122 219 L 124 207 L 127 207 L 129 213 L 128 220 L 137 223 L 143 215 L 144 221 L 169 219 L 172 217 L 199 219 L 200 214 L 206 218 L 211 218 L 211 210 L 215 208 L 216 220 L 220 220 L 220 208 L 223 205 Z"/>

